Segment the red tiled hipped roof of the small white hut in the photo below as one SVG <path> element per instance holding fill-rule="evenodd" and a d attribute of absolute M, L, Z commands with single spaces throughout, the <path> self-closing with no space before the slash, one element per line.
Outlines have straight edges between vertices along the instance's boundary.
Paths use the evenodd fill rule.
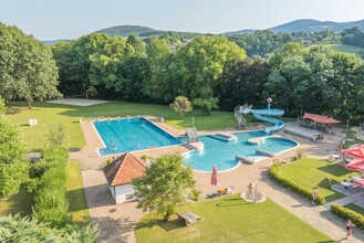
<path fill-rule="evenodd" d="M 125 152 L 112 163 L 105 166 L 103 170 L 110 186 L 115 187 L 131 183 L 134 178 L 143 177 L 146 167 L 144 160 Z"/>

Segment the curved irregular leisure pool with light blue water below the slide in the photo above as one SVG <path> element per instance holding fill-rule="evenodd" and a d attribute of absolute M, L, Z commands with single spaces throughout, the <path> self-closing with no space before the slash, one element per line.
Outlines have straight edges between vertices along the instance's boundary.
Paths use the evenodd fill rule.
<path fill-rule="evenodd" d="M 240 161 L 236 160 L 236 156 L 245 156 L 248 158 L 268 158 L 261 154 L 257 154 L 256 149 L 262 149 L 271 154 L 279 154 L 284 150 L 294 148 L 298 142 L 279 137 L 267 137 L 259 144 L 251 144 L 250 138 L 266 137 L 263 131 L 237 133 L 237 141 L 223 141 L 210 136 L 199 136 L 199 140 L 205 144 L 202 151 L 191 151 L 184 155 L 185 165 L 191 163 L 194 170 L 212 171 L 214 165 L 218 171 L 230 170 L 237 167 Z"/>

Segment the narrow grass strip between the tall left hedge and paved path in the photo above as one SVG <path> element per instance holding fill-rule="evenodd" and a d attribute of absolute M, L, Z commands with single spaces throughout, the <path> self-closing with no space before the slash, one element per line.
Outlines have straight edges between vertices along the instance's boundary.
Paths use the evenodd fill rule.
<path fill-rule="evenodd" d="M 74 222 L 87 224 L 91 221 L 86 197 L 83 190 L 80 163 L 69 161 L 67 165 L 67 191 L 69 211 Z"/>

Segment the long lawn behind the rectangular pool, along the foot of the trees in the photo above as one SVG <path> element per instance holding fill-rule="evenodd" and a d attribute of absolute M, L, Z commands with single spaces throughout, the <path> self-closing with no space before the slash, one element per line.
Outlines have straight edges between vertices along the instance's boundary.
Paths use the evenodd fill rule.
<path fill-rule="evenodd" d="M 195 109 L 180 119 L 179 115 L 173 113 L 168 106 L 128 102 L 110 102 L 89 107 L 35 102 L 32 110 L 27 108 L 24 102 L 13 102 L 11 106 L 14 113 L 7 115 L 7 117 L 20 125 L 30 150 L 43 148 L 50 126 L 56 124 L 63 124 L 67 128 L 66 146 L 82 148 L 85 145 L 85 139 L 79 120 L 80 118 L 89 119 L 89 117 L 152 115 L 164 117 L 167 124 L 176 128 L 191 126 L 191 117 L 195 117 L 195 126 L 200 130 L 238 126 L 232 112 L 212 112 L 210 116 L 206 116 L 200 110 Z M 39 125 L 30 127 L 28 120 L 31 118 L 37 118 Z"/>

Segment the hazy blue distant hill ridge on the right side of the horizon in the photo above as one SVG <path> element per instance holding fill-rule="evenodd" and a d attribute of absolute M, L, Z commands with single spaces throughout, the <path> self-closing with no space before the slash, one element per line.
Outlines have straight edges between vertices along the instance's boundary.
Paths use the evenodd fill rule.
<path fill-rule="evenodd" d="M 292 32 L 319 32 L 324 30 L 331 30 L 334 32 L 341 32 L 345 29 L 351 29 L 353 27 L 358 27 L 364 31 L 364 20 L 352 21 L 352 22 L 333 22 L 333 21 L 319 21 L 319 20 L 295 20 L 292 22 L 288 22 L 278 27 L 272 27 L 271 30 L 274 33 L 292 33 Z M 223 33 L 223 35 L 237 35 L 251 33 L 254 30 L 240 30 L 233 32 Z"/>

